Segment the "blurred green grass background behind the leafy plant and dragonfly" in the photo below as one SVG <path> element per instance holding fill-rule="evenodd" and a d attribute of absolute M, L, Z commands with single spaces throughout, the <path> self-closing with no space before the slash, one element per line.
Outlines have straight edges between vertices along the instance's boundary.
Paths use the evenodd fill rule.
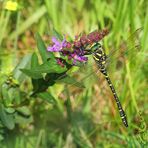
<path fill-rule="evenodd" d="M 85 89 L 63 84 L 50 88 L 49 92 L 57 98 L 56 106 L 40 98 L 30 99 L 27 105 L 18 108 L 26 117 L 17 116 L 15 127 L 8 128 L 0 122 L 0 147 L 148 146 L 146 0 L 0 0 L 0 83 L 25 55 L 37 52 L 36 32 L 48 46 L 53 28 L 74 38 L 81 32 L 105 27 L 110 33 L 103 39 L 103 46 L 107 53 L 110 50 L 117 53 L 111 57 L 109 74 L 129 127 L 121 123 L 104 78 L 94 73 L 83 80 Z M 135 32 L 138 28 L 140 31 Z M 137 45 L 138 50 L 133 48 Z M 126 58 L 122 54 L 124 50 L 128 51 Z M 81 80 L 92 71 L 95 64 L 90 57 L 88 65 L 76 71 L 75 77 Z M 29 78 L 24 79 L 20 89 L 27 93 L 32 86 Z"/>

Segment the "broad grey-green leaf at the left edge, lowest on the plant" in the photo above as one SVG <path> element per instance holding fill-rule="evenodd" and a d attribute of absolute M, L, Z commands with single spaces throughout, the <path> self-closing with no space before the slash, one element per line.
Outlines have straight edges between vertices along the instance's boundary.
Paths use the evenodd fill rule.
<path fill-rule="evenodd" d="M 13 129 L 15 126 L 14 118 L 12 114 L 8 114 L 5 112 L 5 108 L 3 105 L 0 105 L 0 119 L 2 123 L 8 128 Z"/>

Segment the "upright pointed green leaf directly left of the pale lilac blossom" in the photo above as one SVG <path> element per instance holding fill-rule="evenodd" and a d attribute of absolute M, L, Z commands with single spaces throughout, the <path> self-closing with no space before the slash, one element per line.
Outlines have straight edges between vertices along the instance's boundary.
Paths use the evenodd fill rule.
<path fill-rule="evenodd" d="M 52 52 L 47 52 L 47 48 L 39 33 L 36 33 L 35 38 L 36 38 L 37 47 L 41 55 L 42 61 L 46 62 L 48 58 L 54 58 L 54 55 Z"/>

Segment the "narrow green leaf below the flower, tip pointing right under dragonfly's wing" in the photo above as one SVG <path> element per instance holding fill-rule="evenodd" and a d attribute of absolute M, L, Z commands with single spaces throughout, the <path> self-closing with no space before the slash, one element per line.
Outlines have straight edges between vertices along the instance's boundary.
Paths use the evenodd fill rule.
<path fill-rule="evenodd" d="M 62 83 L 66 83 L 66 84 L 71 84 L 74 86 L 77 86 L 79 88 L 85 88 L 84 84 L 81 82 L 78 82 L 75 78 L 70 77 L 68 75 L 66 75 L 64 78 L 56 80 L 56 82 L 62 82 Z"/>

